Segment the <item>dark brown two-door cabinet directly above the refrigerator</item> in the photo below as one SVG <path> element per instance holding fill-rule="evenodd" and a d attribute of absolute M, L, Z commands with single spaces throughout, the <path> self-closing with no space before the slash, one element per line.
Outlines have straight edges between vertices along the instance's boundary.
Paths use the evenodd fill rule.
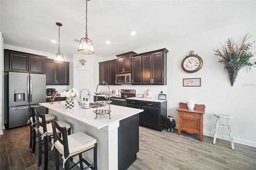
<path fill-rule="evenodd" d="M 46 56 L 4 49 L 4 70 L 46 73 Z"/>

